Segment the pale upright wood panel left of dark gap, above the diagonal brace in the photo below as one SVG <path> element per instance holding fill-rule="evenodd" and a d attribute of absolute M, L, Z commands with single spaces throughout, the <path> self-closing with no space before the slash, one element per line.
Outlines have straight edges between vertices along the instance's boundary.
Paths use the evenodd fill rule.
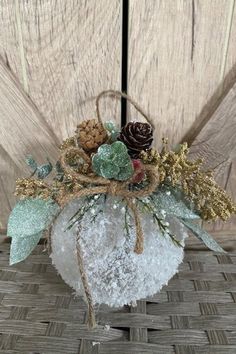
<path fill-rule="evenodd" d="M 3 0 L 0 14 L 0 53 L 60 139 L 120 89 L 121 0 Z M 119 102 L 103 114 L 119 121 Z"/>

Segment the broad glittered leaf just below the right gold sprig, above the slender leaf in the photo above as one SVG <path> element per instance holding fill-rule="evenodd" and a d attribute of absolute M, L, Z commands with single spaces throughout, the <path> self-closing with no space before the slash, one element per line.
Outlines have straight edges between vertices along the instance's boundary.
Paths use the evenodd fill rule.
<path fill-rule="evenodd" d="M 173 191 L 172 188 L 159 188 L 153 194 L 153 201 L 158 209 L 163 209 L 170 216 L 185 219 L 199 219 L 194 211 L 192 211 L 182 200 L 183 195 L 180 191 Z"/>

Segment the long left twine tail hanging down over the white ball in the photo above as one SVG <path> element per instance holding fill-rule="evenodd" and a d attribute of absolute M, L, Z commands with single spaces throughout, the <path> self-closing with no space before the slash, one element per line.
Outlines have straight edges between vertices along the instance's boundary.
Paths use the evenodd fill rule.
<path fill-rule="evenodd" d="M 83 257 L 82 257 L 82 250 L 81 250 L 81 247 L 79 244 L 79 238 L 80 237 L 79 237 L 79 230 L 78 230 L 77 231 L 77 238 L 76 238 L 77 260 L 78 260 L 78 266 L 79 266 L 81 280 L 82 280 L 83 287 L 84 287 L 85 296 L 86 296 L 87 303 L 88 303 L 88 327 L 90 329 L 92 329 L 97 326 L 97 323 L 96 323 L 92 295 L 91 295 L 90 287 L 88 284 L 88 278 L 87 278 L 86 271 L 84 269 L 84 262 L 83 262 Z"/>

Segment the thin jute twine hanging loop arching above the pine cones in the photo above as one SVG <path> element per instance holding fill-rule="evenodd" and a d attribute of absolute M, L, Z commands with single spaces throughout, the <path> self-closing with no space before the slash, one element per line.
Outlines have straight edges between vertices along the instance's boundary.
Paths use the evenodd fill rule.
<path fill-rule="evenodd" d="M 118 97 L 118 98 L 124 97 L 146 119 L 146 121 L 152 126 L 152 129 L 153 130 L 155 129 L 155 125 L 152 122 L 151 118 L 143 111 L 143 109 L 139 106 L 139 104 L 137 102 L 135 102 L 131 96 L 127 95 L 127 93 L 124 93 L 121 91 L 116 91 L 116 90 L 102 91 L 96 98 L 96 114 L 97 114 L 97 119 L 101 124 L 103 124 L 103 122 L 102 122 L 101 113 L 100 113 L 100 101 L 101 101 L 101 98 L 103 98 L 104 96 L 111 96 L 111 97 Z"/>

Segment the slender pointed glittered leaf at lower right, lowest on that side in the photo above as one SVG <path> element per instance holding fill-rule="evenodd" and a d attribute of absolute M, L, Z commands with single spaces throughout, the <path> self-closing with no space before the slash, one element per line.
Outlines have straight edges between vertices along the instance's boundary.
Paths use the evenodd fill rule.
<path fill-rule="evenodd" d="M 180 221 L 197 236 L 210 250 L 214 252 L 226 253 L 223 248 L 209 235 L 205 230 L 199 227 L 197 224 L 193 224 L 186 219 L 180 219 Z"/>

